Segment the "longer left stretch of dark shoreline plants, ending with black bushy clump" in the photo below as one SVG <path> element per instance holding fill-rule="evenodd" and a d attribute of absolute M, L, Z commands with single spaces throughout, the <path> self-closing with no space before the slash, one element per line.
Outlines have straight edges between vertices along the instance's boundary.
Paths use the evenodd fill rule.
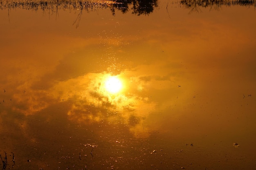
<path fill-rule="evenodd" d="M 52 10 L 75 9 L 94 11 L 95 9 L 109 8 L 112 14 L 119 10 L 126 13 L 132 10 L 133 14 L 149 14 L 157 7 L 157 0 L 1 0 L 0 9 L 30 9 Z"/>

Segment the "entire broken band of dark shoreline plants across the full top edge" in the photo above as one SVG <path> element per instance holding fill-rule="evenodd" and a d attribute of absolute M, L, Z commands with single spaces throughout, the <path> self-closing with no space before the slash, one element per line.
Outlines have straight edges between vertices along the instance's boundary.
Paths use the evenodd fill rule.
<path fill-rule="evenodd" d="M 210 7 L 211 9 L 218 10 L 220 6 L 253 6 L 256 7 L 256 0 L 181 0 L 180 4 L 186 8 L 191 9 L 190 12 L 201 11 L 200 7 Z M 167 6 L 169 1 L 167 3 Z M 116 11 L 121 13 L 127 13 L 131 11 L 135 15 L 148 15 L 154 11 L 158 6 L 157 0 L 0 0 L 0 9 L 26 9 L 35 10 L 38 9 L 48 11 L 49 15 L 56 13 L 58 16 L 58 10 L 80 10 L 73 25 L 76 28 L 79 26 L 83 11 L 95 11 L 98 9 L 110 9 L 112 15 L 115 15 Z M 167 9 L 166 6 L 166 9 Z"/>

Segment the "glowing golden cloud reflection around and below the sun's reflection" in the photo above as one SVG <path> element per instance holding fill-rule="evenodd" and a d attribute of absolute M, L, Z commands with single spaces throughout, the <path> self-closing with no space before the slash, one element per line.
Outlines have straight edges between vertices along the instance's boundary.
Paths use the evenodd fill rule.
<path fill-rule="evenodd" d="M 126 77 L 126 74 L 128 72 L 119 75 L 124 89 L 116 94 L 106 91 L 108 73 L 88 73 L 59 82 L 50 91 L 59 101 L 72 103 L 67 111 L 72 121 L 126 124 L 134 134 L 146 137 L 144 120 L 156 109 L 156 103 L 142 93 L 143 89 L 147 89 L 144 81 L 137 77 Z"/>

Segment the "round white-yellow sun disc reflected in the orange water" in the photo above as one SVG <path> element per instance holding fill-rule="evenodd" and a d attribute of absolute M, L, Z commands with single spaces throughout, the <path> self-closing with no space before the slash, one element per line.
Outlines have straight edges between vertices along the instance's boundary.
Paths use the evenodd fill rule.
<path fill-rule="evenodd" d="M 121 90 L 122 83 L 117 77 L 109 77 L 106 80 L 106 90 L 109 93 L 117 93 Z"/>

